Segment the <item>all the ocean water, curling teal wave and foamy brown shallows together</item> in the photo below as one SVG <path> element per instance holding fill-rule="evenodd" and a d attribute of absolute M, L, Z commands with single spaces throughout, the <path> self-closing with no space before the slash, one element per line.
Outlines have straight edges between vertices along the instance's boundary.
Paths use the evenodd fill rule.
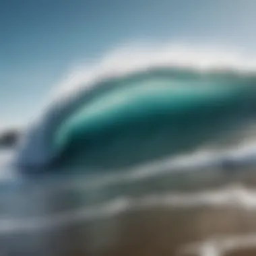
<path fill-rule="evenodd" d="M 1 152 L 0 255 L 255 255 L 256 75 L 174 57 L 82 71 Z"/>

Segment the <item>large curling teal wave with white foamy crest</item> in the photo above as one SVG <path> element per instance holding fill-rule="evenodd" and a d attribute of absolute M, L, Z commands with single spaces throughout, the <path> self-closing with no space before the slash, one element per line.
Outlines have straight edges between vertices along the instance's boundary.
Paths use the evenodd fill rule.
<path fill-rule="evenodd" d="M 113 55 L 71 79 L 22 139 L 18 165 L 126 168 L 246 130 L 253 63 L 178 50 Z"/>

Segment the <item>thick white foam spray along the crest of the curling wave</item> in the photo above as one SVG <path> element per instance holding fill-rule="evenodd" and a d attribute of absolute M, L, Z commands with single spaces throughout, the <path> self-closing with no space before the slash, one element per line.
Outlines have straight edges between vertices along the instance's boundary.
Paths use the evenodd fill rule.
<path fill-rule="evenodd" d="M 248 73 L 256 70 L 256 56 L 245 56 L 238 50 L 213 46 L 174 43 L 123 44 L 95 63 L 80 63 L 69 71 L 68 78 L 65 77 L 55 88 L 55 96 L 57 94 L 57 98 L 64 97 L 79 88 L 95 86 L 100 80 L 154 67 L 185 67 L 198 72 L 230 70 Z"/>

